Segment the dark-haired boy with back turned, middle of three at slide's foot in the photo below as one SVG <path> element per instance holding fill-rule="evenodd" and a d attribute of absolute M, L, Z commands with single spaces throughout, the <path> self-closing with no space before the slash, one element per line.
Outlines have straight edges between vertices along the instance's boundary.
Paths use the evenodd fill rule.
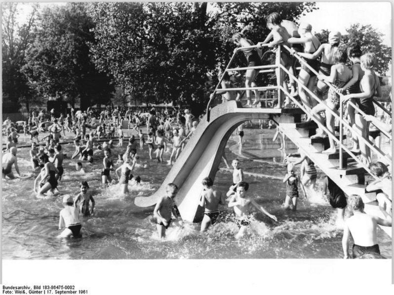
<path fill-rule="evenodd" d="M 204 190 L 201 193 L 200 203 L 201 207 L 205 208 L 204 217 L 201 222 L 200 231 L 208 229 L 210 225 L 214 225 L 219 216 L 219 204 L 225 205 L 226 200 L 221 192 L 213 190 L 213 181 L 210 177 L 205 177 L 202 180 Z"/>

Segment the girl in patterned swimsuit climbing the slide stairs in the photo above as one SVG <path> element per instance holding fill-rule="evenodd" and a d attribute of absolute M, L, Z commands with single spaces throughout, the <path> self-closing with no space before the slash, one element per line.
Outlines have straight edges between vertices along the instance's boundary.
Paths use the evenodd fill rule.
<path fill-rule="evenodd" d="M 343 87 L 351 78 L 352 78 L 352 71 L 345 65 L 346 61 L 348 59 L 348 55 L 346 52 L 342 49 L 339 49 L 333 57 L 333 61 L 335 63 L 334 66 L 331 66 L 331 75 L 329 77 L 325 75 L 319 75 L 318 78 L 320 80 L 326 80 L 330 83 L 333 83 L 333 86 L 336 88 L 341 88 Z M 321 102 L 318 105 L 316 105 L 312 109 L 312 113 L 315 116 L 316 120 L 320 122 L 321 124 L 324 124 L 323 118 L 320 116 L 320 112 L 325 111 L 325 116 L 326 116 L 326 127 L 328 131 L 330 131 L 332 134 L 334 133 L 334 116 L 331 114 L 331 112 L 327 111 L 327 108 L 335 111 L 339 107 L 339 95 L 332 90 L 331 88 L 328 90 L 328 97 L 325 102 Z M 315 137 L 324 137 L 325 132 L 320 131 L 316 135 L 311 136 L 311 138 Z M 333 154 L 336 151 L 335 148 L 335 142 L 334 139 L 329 137 L 328 138 L 330 141 L 330 147 L 323 151 L 322 153 L 324 154 Z"/>

